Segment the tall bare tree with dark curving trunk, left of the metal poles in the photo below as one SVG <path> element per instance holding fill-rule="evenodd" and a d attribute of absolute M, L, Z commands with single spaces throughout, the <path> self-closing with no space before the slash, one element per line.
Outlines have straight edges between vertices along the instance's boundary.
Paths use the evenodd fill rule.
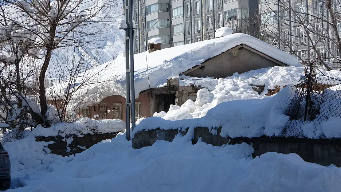
<path fill-rule="evenodd" d="M 56 49 L 66 47 L 98 47 L 98 41 L 108 32 L 106 25 L 113 22 L 117 11 L 116 0 L 3 0 L 6 3 L 6 21 L 17 26 L 20 38 L 30 39 L 43 51 L 39 70 L 39 102 L 43 126 L 50 123 L 46 117 L 47 100 L 45 77 Z M 20 30 L 20 31 L 18 31 Z M 23 35 L 25 34 L 25 35 Z"/>

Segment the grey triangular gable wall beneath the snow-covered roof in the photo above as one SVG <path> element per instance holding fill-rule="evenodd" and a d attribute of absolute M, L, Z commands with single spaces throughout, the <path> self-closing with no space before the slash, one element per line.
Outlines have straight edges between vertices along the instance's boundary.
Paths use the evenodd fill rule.
<path fill-rule="evenodd" d="M 235 72 L 240 74 L 250 70 L 280 66 L 243 47 L 226 51 L 202 64 L 201 68 L 184 74 L 191 77 L 224 78 Z"/>

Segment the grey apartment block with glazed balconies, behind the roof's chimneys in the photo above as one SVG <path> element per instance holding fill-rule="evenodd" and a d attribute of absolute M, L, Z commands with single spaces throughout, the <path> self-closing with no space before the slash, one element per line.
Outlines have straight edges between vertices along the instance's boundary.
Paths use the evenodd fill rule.
<path fill-rule="evenodd" d="M 167 48 L 213 39 L 222 26 L 257 29 L 257 22 L 242 25 L 257 17 L 257 0 L 135 0 L 133 8 L 135 54 L 146 51 L 152 38 L 161 38 L 161 48 Z"/>

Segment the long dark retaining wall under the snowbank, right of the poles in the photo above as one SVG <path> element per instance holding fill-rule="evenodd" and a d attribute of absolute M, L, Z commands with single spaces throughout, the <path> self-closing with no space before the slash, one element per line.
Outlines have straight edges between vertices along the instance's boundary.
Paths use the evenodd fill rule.
<path fill-rule="evenodd" d="M 341 167 L 341 140 L 339 139 L 307 139 L 307 138 L 287 138 L 287 137 L 222 137 L 220 136 L 221 128 L 216 128 L 217 134 L 210 133 L 208 128 L 198 127 L 194 129 L 194 138 L 192 143 L 195 144 L 201 138 L 201 141 L 213 146 L 222 146 L 225 144 L 241 144 L 248 143 L 254 148 L 252 156 L 255 158 L 267 152 L 277 152 L 283 154 L 296 153 L 303 160 L 311 163 L 317 163 L 323 166 L 336 165 Z M 174 137 L 186 132 L 175 130 L 148 130 L 135 133 L 133 148 L 139 149 L 151 146 L 158 140 L 172 142 Z"/>

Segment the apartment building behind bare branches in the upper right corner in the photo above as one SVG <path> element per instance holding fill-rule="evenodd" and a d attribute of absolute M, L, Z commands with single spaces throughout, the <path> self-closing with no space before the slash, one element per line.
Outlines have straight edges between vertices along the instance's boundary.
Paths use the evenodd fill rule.
<path fill-rule="evenodd" d="M 336 35 L 341 33 L 340 0 L 331 2 L 332 12 L 326 8 L 327 1 L 321 0 L 261 0 L 260 16 L 269 33 L 280 39 L 275 44 L 282 50 L 297 56 L 298 60 L 317 58 L 318 54 L 326 61 L 339 57 L 335 44 Z M 289 9 L 290 8 L 290 9 Z M 289 11 L 290 10 L 290 11 Z M 336 14 L 337 30 L 332 29 L 331 14 Z M 302 25 L 300 22 L 304 22 Z M 329 23 L 330 22 L 330 23 Z M 313 32 L 307 34 L 307 26 Z M 312 41 L 310 41 L 312 40 Z M 312 50 L 315 47 L 317 51 Z M 311 51 L 308 51 L 311 50 Z M 301 60 L 302 61 L 302 60 Z"/>

